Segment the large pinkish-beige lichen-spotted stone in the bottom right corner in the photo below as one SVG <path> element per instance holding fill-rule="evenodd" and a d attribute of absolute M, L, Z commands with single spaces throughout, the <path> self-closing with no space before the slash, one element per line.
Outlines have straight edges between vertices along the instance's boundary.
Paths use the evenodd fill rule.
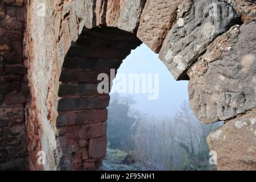
<path fill-rule="evenodd" d="M 256 111 L 227 121 L 207 137 L 218 170 L 256 169 Z"/>

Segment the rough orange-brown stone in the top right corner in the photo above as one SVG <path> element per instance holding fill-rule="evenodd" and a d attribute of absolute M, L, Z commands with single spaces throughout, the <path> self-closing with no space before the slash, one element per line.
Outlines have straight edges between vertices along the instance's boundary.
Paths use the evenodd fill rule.
<path fill-rule="evenodd" d="M 250 23 L 256 20 L 256 2 L 254 0 L 221 0 L 229 3 L 238 15 L 242 16 L 242 21 Z"/>

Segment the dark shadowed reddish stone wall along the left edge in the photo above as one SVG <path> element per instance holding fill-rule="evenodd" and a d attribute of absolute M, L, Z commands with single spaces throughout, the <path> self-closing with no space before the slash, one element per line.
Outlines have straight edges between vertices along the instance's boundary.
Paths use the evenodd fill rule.
<path fill-rule="evenodd" d="M 27 169 L 23 0 L 0 1 L 0 169 Z"/>

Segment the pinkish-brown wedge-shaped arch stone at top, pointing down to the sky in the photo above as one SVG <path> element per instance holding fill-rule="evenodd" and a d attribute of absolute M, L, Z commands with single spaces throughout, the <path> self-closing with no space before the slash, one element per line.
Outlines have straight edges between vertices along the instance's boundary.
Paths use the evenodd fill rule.
<path fill-rule="evenodd" d="M 178 0 L 147 1 L 142 11 L 137 36 L 158 53 L 178 9 Z"/>

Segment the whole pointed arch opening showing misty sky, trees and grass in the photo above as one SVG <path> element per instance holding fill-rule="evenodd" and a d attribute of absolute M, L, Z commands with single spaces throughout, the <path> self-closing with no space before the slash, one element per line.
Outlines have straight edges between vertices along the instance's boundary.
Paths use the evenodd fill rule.
<path fill-rule="evenodd" d="M 216 170 L 206 137 L 219 124 L 198 121 L 189 106 L 188 81 L 175 81 L 157 53 L 141 44 L 123 60 L 113 82 L 102 170 Z"/>

